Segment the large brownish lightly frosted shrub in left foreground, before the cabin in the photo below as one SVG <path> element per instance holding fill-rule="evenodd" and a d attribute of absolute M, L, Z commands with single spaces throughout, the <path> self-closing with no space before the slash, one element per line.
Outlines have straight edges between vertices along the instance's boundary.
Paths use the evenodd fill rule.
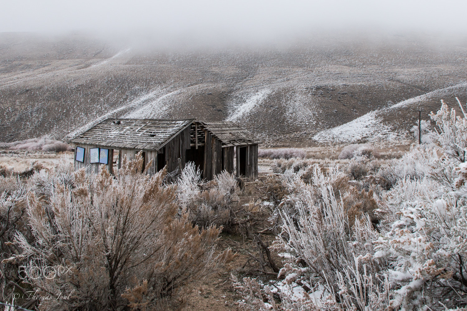
<path fill-rule="evenodd" d="M 176 203 L 177 185 L 163 182 L 166 170 L 149 177 L 137 169 L 142 162 L 141 153 L 124 157 L 116 176 L 103 165 L 97 176 L 81 169 L 74 178 L 55 171 L 31 179 L 32 236 L 18 232 L 21 251 L 3 262 L 20 263 L 23 282 L 54 298 L 41 310 L 163 309 L 230 260 L 229 249 L 216 253 L 220 229 L 193 226 Z M 31 272 L 43 270 L 61 273 Z"/>

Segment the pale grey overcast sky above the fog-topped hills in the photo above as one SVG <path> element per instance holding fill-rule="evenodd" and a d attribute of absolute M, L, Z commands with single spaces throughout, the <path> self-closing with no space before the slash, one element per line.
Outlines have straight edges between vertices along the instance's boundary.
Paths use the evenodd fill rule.
<path fill-rule="evenodd" d="M 0 0 L 0 32 L 73 30 L 261 36 L 313 29 L 467 33 L 467 0 Z"/>

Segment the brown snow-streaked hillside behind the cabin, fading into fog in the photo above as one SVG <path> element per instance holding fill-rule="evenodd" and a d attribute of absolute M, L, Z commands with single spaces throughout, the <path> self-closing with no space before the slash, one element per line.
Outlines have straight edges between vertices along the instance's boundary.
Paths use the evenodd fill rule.
<path fill-rule="evenodd" d="M 0 137 L 63 139 L 106 117 L 197 118 L 238 121 L 266 142 L 310 145 L 318 132 L 368 113 L 396 132 L 414 124 L 414 103 L 429 112 L 439 99 L 466 101 L 466 60 L 466 38 L 427 35 L 199 48 L 0 33 Z"/>

